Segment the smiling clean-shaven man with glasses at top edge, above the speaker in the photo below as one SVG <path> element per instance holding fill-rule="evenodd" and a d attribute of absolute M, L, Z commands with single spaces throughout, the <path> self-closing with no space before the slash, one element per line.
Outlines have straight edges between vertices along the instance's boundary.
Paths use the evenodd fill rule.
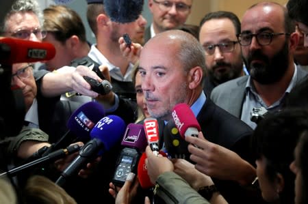
<path fill-rule="evenodd" d="M 144 31 L 145 42 L 157 33 L 181 27 L 190 15 L 192 0 L 149 0 L 148 5 L 153 22 Z"/>

